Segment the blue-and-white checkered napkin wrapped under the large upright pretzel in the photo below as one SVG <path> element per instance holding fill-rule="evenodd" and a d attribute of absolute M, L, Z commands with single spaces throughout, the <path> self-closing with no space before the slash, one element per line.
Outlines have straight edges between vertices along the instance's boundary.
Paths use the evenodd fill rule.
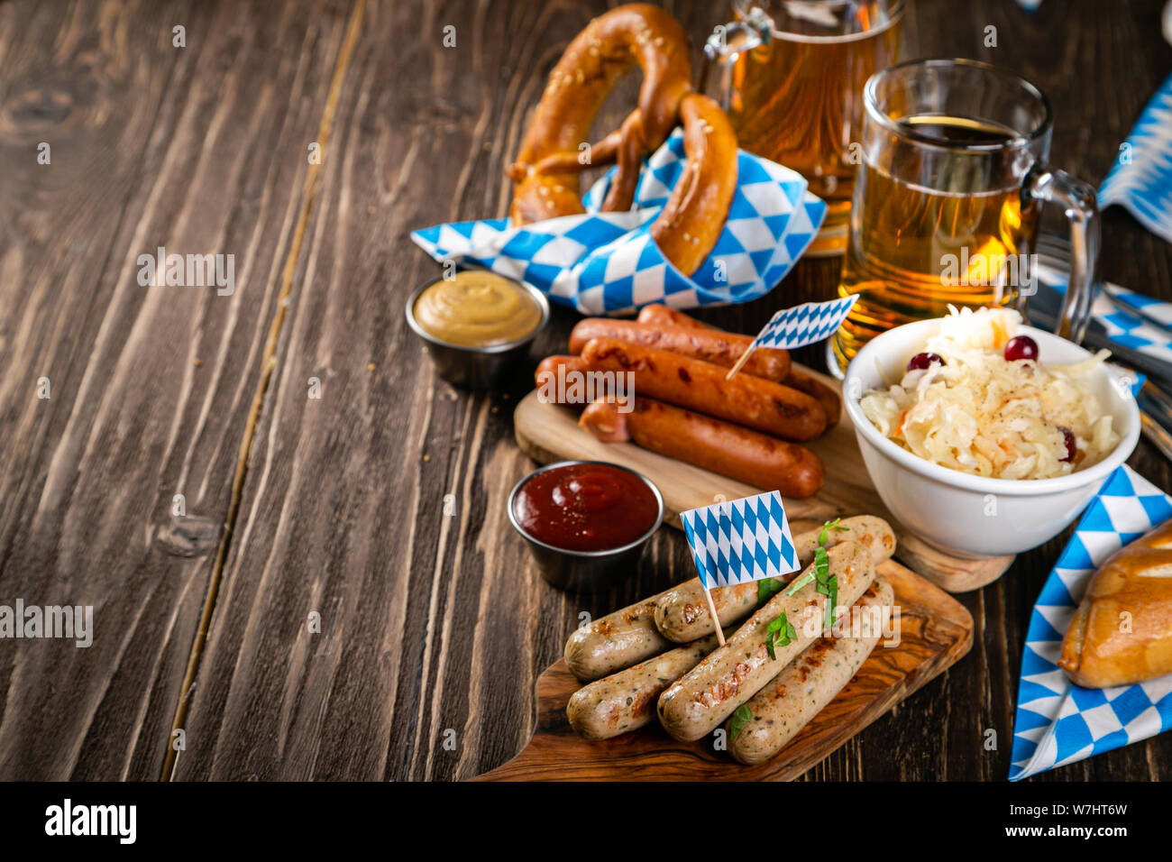
<path fill-rule="evenodd" d="M 800 174 L 740 150 L 737 189 L 708 259 L 688 278 L 650 237 L 687 164 L 676 130 L 643 164 L 629 212 L 599 212 L 612 169 L 582 198 L 586 215 L 515 228 L 507 218 L 441 224 L 411 239 L 436 260 L 481 266 L 515 278 L 584 314 L 632 312 L 663 303 L 673 308 L 747 303 L 790 271 L 826 215 Z"/>

